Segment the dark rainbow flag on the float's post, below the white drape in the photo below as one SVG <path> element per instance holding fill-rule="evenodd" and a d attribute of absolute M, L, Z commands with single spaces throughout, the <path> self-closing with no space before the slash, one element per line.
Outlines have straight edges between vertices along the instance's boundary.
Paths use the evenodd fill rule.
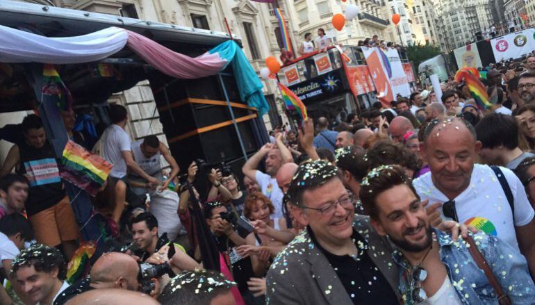
<path fill-rule="evenodd" d="M 72 96 L 65 83 L 60 78 L 56 68 L 50 64 L 43 65 L 43 79 L 41 92 L 56 99 L 55 103 L 60 110 L 67 111 L 72 108 Z"/>

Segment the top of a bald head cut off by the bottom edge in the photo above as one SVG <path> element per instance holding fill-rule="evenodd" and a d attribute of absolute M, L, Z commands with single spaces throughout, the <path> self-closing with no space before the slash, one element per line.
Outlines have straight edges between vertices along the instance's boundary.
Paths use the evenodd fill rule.
<path fill-rule="evenodd" d="M 158 305 L 160 303 L 141 292 L 126 291 L 124 289 L 99 289 L 83 292 L 73 297 L 68 305 L 108 305 L 108 304 L 135 304 Z"/>

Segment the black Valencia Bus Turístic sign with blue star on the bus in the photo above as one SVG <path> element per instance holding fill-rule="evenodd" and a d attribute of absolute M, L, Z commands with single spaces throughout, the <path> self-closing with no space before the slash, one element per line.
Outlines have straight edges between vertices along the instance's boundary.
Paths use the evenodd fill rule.
<path fill-rule="evenodd" d="M 317 76 L 297 85 L 288 86 L 292 92 L 303 101 L 310 104 L 314 101 L 324 101 L 345 91 L 340 69 L 336 69 L 325 75 Z"/>

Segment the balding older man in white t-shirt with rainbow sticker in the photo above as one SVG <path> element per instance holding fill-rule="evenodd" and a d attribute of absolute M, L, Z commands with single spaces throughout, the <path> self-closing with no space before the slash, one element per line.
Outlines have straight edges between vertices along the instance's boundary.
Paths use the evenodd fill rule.
<path fill-rule="evenodd" d="M 525 255 L 535 276 L 535 212 L 511 170 L 474 164 L 481 147 L 474 127 L 463 119 L 432 121 L 422 143 L 430 172 L 413 181 L 415 190 L 422 199 L 443 203 L 443 219 L 471 224 L 509 243 Z"/>

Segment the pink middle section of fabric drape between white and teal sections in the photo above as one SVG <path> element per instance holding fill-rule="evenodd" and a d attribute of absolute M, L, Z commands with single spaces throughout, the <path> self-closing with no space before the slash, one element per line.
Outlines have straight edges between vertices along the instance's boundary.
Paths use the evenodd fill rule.
<path fill-rule="evenodd" d="M 169 76 L 177 79 L 199 79 L 219 73 L 227 63 L 217 53 L 204 53 L 191 58 L 176 53 L 154 40 L 143 35 L 128 31 L 127 45 L 147 63 Z"/>

